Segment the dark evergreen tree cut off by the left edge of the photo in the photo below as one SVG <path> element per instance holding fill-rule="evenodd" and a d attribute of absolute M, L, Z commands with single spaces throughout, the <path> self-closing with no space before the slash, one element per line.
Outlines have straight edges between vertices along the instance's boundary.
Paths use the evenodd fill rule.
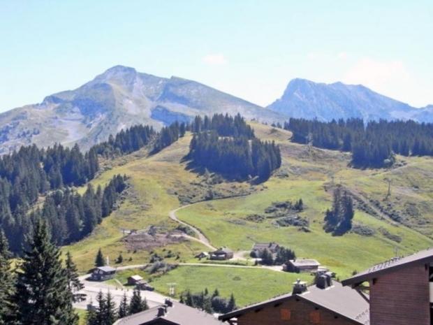
<path fill-rule="evenodd" d="M 12 303 L 14 277 L 10 270 L 11 254 L 8 240 L 0 230 L 0 325 L 11 324 L 14 306 Z"/>

